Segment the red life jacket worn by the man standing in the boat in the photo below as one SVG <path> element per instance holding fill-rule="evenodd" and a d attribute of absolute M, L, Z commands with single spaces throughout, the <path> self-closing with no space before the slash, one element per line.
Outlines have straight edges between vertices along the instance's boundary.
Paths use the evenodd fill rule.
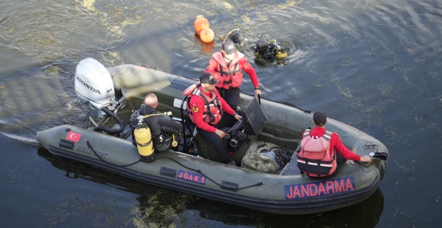
<path fill-rule="evenodd" d="M 244 57 L 244 54 L 236 52 L 227 67 L 227 63 L 224 61 L 221 51 L 213 54 L 213 58 L 215 58 L 218 63 L 218 69 L 212 73 L 213 76 L 219 80 L 216 84 L 217 88 L 240 88 L 242 83 L 242 72 L 241 66 L 238 66 L 238 63 L 242 57 Z"/>

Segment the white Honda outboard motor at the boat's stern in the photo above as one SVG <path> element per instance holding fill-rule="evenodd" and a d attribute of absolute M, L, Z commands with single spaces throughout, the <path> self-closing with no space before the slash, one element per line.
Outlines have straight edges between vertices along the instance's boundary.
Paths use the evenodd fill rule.
<path fill-rule="evenodd" d="M 108 70 L 93 58 L 78 63 L 75 73 L 75 92 L 81 100 L 89 103 L 88 112 L 101 119 L 105 113 L 101 108 L 115 110 L 115 89 Z"/>

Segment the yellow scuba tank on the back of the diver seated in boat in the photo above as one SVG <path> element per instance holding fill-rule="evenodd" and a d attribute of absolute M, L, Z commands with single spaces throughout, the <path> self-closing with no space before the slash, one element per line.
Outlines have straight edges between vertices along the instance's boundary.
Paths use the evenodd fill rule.
<path fill-rule="evenodd" d="M 143 162 L 150 162 L 155 158 L 153 150 L 152 135 L 149 128 L 136 128 L 133 132 L 137 142 L 138 152 Z"/>

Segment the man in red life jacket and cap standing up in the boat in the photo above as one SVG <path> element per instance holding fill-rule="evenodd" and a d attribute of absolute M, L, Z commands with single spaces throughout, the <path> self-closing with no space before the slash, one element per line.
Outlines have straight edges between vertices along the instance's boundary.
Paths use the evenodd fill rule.
<path fill-rule="evenodd" d="M 255 94 L 261 95 L 259 82 L 255 69 L 245 59 L 244 54 L 237 52 L 235 43 L 225 41 L 222 43 L 222 51 L 213 54 L 206 73 L 212 73 L 218 80 L 216 88 L 224 100 L 233 110 L 237 110 L 240 99 L 240 86 L 242 83 L 242 72 L 244 70 L 255 86 Z"/>

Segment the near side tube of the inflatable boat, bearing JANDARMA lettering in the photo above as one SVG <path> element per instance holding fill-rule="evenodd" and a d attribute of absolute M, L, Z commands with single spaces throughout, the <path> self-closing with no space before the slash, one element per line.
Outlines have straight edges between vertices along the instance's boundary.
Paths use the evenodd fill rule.
<path fill-rule="evenodd" d="M 59 142 L 65 139 L 68 134 L 66 130 L 81 134 L 82 138 L 91 141 L 91 145 L 95 145 L 102 137 L 113 138 L 113 143 L 115 145 L 118 144 L 120 148 L 124 147 L 122 145 L 125 145 L 128 150 L 119 150 L 119 154 L 117 154 L 115 151 L 112 152 L 106 150 L 103 145 L 93 146 L 94 150 L 98 151 L 99 155 L 105 157 L 104 159 L 108 161 L 114 160 L 114 164 L 109 164 L 108 162 L 98 159 L 91 150 L 86 150 L 85 148 L 87 145 L 85 142 L 75 142 L 72 149 L 60 147 Z M 63 135 L 63 132 L 65 132 L 66 135 Z M 51 138 L 51 140 L 49 140 L 49 138 Z M 96 140 L 96 138 L 98 138 L 98 140 Z M 43 130 L 42 132 L 37 133 L 37 140 L 43 142 L 42 144 L 44 147 L 47 147 L 48 151 L 56 157 L 63 157 L 68 160 L 82 162 L 101 170 L 106 170 L 133 180 L 145 182 L 149 185 L 165 187 L 170 190 L 177 190 L 179 192 L 185 192 L 191 195 L 205 197 L 207 199 L 235 204 L 240 207 L 247 207 L 277 214 L 309 214 L 346 207 L 368 198 L 374 191 L 376 191 L 379 183 L 379 171 L 376 170 L 374 166 L 371 166 L 371 170 L 365 170 L 366 174 L 364 175 L 364 180 L 362 180 L 361 177 L 357 178 L 354 174 L 351 174 L 351 172 L 354 172 L 354 168 L 357 168 L 358 165 L 348 164 L 348 167 L 341 170 L 342 172 L 340 172 L 339 176 L 334 178 L 334 180 L 343 177 L 355 177 L 355 180 L 357 181 L 355 182 L 356 186 L 354 191 L 322 197 L 286 199 L 285 195 L 287 195 L 287 192 L 284 191 L 284 186 L 300 183 L 308 185 L 309 183 L 314 183 L 316 181 L 311 180 L 304 175 L 271 175 L 246 170 L 241 167 L 228 167 L 227 165 L 217 162 L 202 160 L 197 157 L 173 151 L 157 153 L 154 162 L 139 162 L 129 167 L 117 167 L 115 165 L 130 164 L 139 159 L 136 148 L 133 147 L 130 142 L 102 133 L 96 133 L 91 130 L 76 128 L 71 125 L 62 125 L 56 128 Z M 47 141 L 51 142 L 45 143 Z M 195 165 L 197 163 L 199 164 Z M 137 168 L 134 169 L 133 167 Z M 186 167 L 192 167 L 193 170 Z M 173 172 L 162 172 L 162 170 L 173 170 Z M 206 176 L 206 185 L 178 179 L 178 170 L 194 174 L 197 173 L 195 170 L 201 170 L 202 174 Z M 220 175 L 220 172 L 217 172 L 217 170 L 224 170 L 224 175 Z M 171 173 L 173 173 L 173 175 L 171 175 Z M 250 178 L 251 176 L 253 178 Z M 227 185 L 227 187 L 215 185 L 208 178 L 214 180 L 218 184 L 222 184 L 222 182 L 235 183 L 238 185 L 238 188 L 255 185 L 259 182 L 264 182 L 264 185 L 249 187 L 244 190 L 236 190 L 235 187 L 229 185 Z M 364 185 L 361 185 L 361 183 L 364 183 Z"/>

